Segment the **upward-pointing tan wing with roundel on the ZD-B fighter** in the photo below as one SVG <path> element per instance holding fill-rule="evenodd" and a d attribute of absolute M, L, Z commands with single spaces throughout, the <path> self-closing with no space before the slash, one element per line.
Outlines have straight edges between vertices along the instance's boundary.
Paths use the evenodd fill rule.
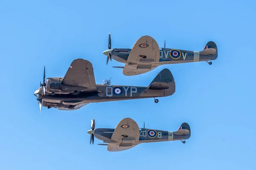
<path fill-rule="evenodd" d="M 116 126 L 116 129 L 113 132 L 111 140 L 116 142 L 122 142 L 122 139 L 123 139 L 123 140 L 130 140 L 131 142 L 135 142 L 135 141 L 138 141 L 139 138 L 140 138 L 140 129 L 138 124 L 131 118 L 125 118 L 125 119 L 122 119 L 119 122 L 119 124 Z"/>

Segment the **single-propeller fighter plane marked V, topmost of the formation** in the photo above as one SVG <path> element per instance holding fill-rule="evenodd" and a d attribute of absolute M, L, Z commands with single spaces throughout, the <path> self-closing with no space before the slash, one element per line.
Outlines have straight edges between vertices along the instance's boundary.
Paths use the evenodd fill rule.
<path fill-rule="evenodd" d="M 155 69 L 159 65 L 177 64 L 186 62 L 206 61 L 209 65 L 218 57 L 218 49 L 215 42 L 209 41 L 202 51 L 188 51 L 173 48 L 159 48 L 156 40 L 150 36 L 142 36 L 134 44 L 133 48 L 112 48 L 111 36 L 108 34 L 108 50 L 103 51 L 107 58 L 117 62 L 125 63 L 125 66 L 114 66 L 122 68 L 125 76 L 143 74 Z"/>

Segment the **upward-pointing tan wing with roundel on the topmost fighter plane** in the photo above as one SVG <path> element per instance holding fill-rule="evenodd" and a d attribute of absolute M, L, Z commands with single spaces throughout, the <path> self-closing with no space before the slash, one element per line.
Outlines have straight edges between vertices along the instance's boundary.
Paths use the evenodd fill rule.
<path fill-rule="evenodd" d="M 154 63 L 159 62 L 160 50 L 157 42 L 150 36 L 140 37 L 131 49 L 127 62 Z"/>

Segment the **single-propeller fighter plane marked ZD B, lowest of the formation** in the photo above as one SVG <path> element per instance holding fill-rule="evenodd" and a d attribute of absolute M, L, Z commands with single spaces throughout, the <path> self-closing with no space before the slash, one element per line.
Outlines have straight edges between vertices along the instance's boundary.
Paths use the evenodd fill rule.
<path fill-rule="evenodd" d="M 189 139 L 191 130 L 189 124 L 182 123 L 177 131 L 164 131 L 146 129 L 145 122 L 144 127 L 139 128 L 138 124 L 131 118 L 122 119 L 115 129 L 111 128 L 96 128 L 95 119 L 91 120 L 91 129 L 87 131 L 91 135 L 91 142 L 94 143 L 94 136 L 96 139 L 103 141 L 107 150 L 110 152 L 117 152 L 122 150 L 128 150 L 137 144 L 149 143 L 149 142 L 164 142 L 164 141 L 176 141 L 180 140 L 185 143 L 185 139 Z"/>

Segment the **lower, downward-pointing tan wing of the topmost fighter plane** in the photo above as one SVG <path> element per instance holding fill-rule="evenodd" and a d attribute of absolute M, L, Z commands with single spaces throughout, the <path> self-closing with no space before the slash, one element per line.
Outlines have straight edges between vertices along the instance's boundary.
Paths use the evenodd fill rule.
<path fill-rule="evenodd" d="M 148 71 L 151 71 L 153 69 L 155 69 L 155 66 L 151 66 L 151 65 L 129 65 L 129 64 L 125 64 L 125 67 L 123 69 L 123 74 L 125 76 L 134 76 L 134 75 L 139 75 L 139 74 L 143 74 L 146 73 Z"/>

